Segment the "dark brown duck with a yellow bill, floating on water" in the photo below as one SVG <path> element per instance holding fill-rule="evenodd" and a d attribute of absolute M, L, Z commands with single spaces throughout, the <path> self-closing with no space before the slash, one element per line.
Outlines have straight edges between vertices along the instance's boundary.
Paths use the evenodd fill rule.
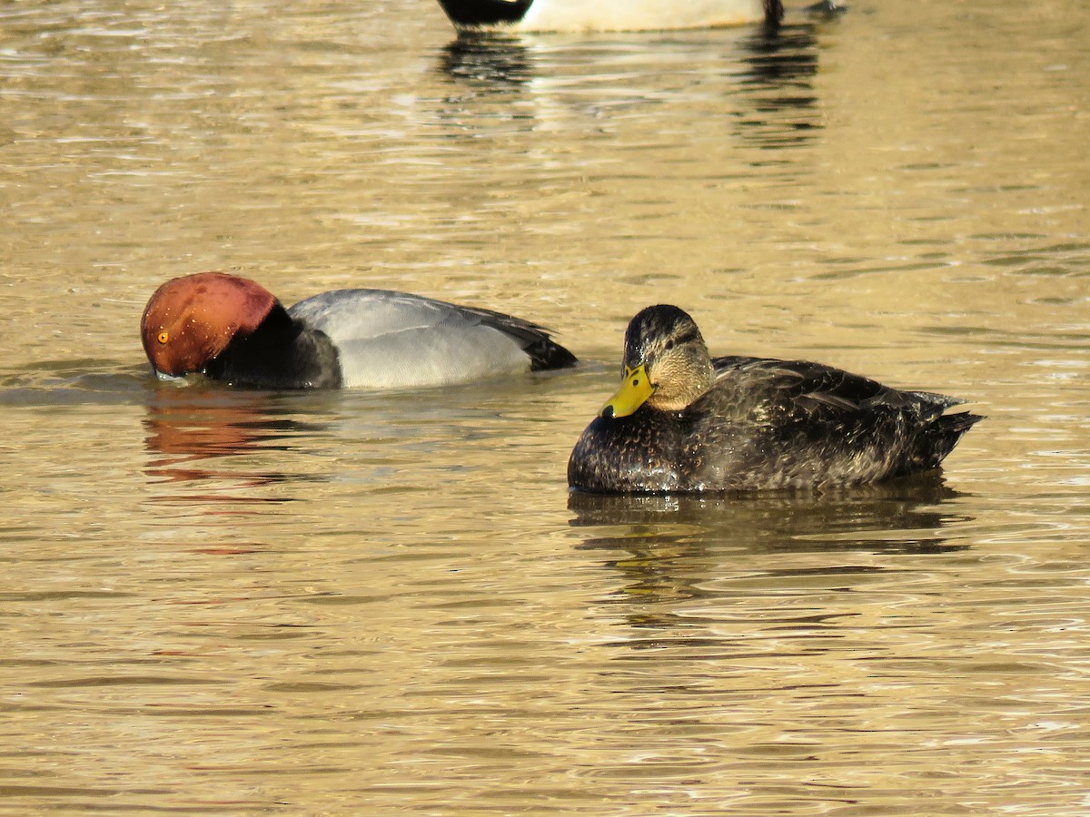
<path fill-rule="evenodd" d="M 595 493 L 831 489 L 931 472 L 982 416 L 821 363 L 713 358 L 669 304 L 625 332 L 617 392 L 582 432 L 568 485 Z"/>

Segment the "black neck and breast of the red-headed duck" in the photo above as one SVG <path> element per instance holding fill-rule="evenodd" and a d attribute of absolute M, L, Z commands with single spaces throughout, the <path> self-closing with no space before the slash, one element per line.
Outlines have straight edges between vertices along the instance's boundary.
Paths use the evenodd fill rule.
<path fill-rule="evenodd" d="M 245 338 L 235 338 L 205 367 L 205 375 L 261 389 L 341 386 L 337 349 L 325 332 L 288 315 L 279 303 Z"/>

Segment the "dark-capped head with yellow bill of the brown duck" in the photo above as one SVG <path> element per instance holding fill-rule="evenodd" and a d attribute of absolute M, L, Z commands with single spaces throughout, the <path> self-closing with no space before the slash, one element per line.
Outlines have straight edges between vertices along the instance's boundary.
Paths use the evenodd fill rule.
<path fill-rule="evenodd" d="M 603 417 L 625 417 L 646 403 L 679 412 L 712 388 L 715 367 L 704 338 L 688 313 L 649 306 L 629 321 L 620 388 L 602 406 Z"/>

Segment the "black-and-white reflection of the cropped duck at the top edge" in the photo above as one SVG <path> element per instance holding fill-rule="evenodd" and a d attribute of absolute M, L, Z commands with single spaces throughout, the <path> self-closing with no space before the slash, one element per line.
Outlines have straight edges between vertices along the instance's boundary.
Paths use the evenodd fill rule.
<path fill-rule="evenodd" d="M 566 112 L 597 118 L 647 102 L 691 99 L 703 109 L 713 94 L 727 112 L 738 108 L 741 137 L 779 148 L 822 126 L 813 88 L 820 32 L 807 22 L 623 36 L 465 33 L 443 49 L 437 70 L 472 98 L 533 101 L 536 114 L 521 111 L 526 130 Z M 455 108 L 440 115 L 498 115 L 465 101 L 444 100 Z"/>

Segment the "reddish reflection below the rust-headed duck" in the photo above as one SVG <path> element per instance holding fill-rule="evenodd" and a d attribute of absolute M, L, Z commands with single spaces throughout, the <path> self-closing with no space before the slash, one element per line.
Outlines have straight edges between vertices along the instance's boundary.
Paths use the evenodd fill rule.
<path fill-rule="evenodd" d="M 145 473 L 170 483 L 226 484 L 254 488 L 288 479 L 270 468 L 240 467 L 257 455 L 288 451 L 291 439 L 320 428 L 283 416 L 275 394 L 227 389 L 160 388 L 148 400 L 144 420 L 149 454 Z M 240 460 L 241 458 L 241 460 Z M 165 497 L 164 499 L 169 499 Z M 185 501 L 192 501 L 187 493 Z M 282 498 L 227 496 L 219 490 L 205 500 L 287 501 Z"/>

